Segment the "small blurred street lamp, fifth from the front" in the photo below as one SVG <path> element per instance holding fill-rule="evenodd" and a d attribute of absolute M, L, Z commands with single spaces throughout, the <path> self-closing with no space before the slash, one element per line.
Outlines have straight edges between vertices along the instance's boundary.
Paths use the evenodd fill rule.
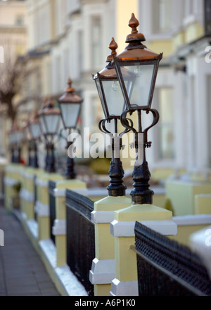
<path fill-rule="evenodd" d="M 32 159 L 32 167 L 38 168 L 38 157 L 37 157 L 37 140 L 40 139 L 41 135 L 41 128 L 39 124 L 39 117 L 37 113 L 37 109 L 34 110 L 32 118 L 29 120 L 28 128 L 30 136 L 32 137 L 32 147 L 31 150 L 34 153 L 33 159 Z"/>

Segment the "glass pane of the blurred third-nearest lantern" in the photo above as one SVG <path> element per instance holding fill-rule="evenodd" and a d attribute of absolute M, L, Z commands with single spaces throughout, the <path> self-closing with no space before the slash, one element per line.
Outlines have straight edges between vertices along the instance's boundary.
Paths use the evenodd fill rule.
<path fill-rule="evenodd" d="M 65 128 L 75 128 L 79 116 L 80 104 L 60 103 L 60 111 L 63 117 Z"/>

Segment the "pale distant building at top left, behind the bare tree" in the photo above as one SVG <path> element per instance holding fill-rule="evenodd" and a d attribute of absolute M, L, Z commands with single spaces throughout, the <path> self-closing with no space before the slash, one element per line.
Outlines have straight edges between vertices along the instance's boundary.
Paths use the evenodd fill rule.
<path fill-rule="evenodd" d="M 13 63 L 17 56 L 26 54 L 27 16 L 25 2 L 18 0 L 0 1 L 0 75 L 4 66 Z M 22 96 L 22 94 L 16 95 L 15 101 L 18 102 L 20 95 Z M 11 128 L 11 124 L 2 116 L 3 113 L 4 106 L 0 106 L 0 154 L 5 155 L 8 144 L 7 131 Z"/>

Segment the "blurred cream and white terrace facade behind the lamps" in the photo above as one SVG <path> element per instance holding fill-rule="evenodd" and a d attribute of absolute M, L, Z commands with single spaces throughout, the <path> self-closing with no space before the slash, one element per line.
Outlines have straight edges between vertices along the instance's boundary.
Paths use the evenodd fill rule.
<path fill-rule="evenodd" d="M 84 99 L 79 126 L 90 130 L 85 140 L 98 131 L 103 118 L 91 74 L 106 66 L 112 37 L 119 46 L 117 53 L 124 49 L 128 21 L 135 13 L 148 49 L 163 52 L 153 97 L 160 120 L 149 132 L 153 144 L 147 150 L 153 178 L 165 180 L 172 173 L 210 175 L 210 0 L 26 2 L 27 54 L 39 67 L 27 89 L 43 99 L 57 99 L 70 76 Z M 131 171 L 130 159 L 122 161 L 124 170 Z"/>

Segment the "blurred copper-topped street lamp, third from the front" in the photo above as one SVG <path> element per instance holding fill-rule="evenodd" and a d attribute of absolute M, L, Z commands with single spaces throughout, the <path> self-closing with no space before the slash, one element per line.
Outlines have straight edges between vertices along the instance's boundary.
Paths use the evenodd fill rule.
<path fill-rule="evenodd" d="M 76 130 L 77 121 L 81 112 L 83 99 L 75 94 L 75 89 L 72 87 L 72 80 L 68 78 L 68 88 L 65 94 L 58 99 L 60 107 L 61 118 L 63 120 L 63 128 L 70 133 Z M 67 149 L 73 142 L 68 141 Z M 74 160 L 72 156 L 68 156 L 65 177 L 68 180 L 75 179 Z"/>

